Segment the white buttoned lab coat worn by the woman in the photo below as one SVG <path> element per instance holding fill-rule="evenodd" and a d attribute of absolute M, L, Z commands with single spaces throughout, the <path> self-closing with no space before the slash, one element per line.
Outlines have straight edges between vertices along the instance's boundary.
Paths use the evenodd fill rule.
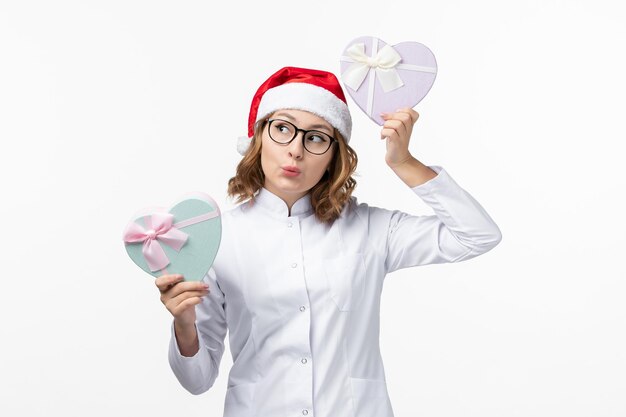
<path fill-rule="evenodd" d="M 310 197 L 286 204 L 266 189 L 222 214 L 222 241 L 196 306 L 200 350 L 184 357 L 173 325 L 169 362 L 189 392 L 213 385 L 229 330 L 233 366 L 224 417 L 392 417 L 379 349 L 385 275 L 487 252 L 500 230 L 439 166 L 412 190 L 435 215 L 352 197 L 332 226 Z"/>

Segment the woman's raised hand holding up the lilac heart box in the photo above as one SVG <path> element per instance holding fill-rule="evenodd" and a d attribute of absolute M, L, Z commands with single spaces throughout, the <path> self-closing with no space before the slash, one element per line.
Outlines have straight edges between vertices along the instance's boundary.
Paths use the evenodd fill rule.
<path fill-rule="evenodd" d="M 380 138 L 387 139 L 385 162 L 393 169 L 412 158 L 409 140 L 419 113 L 411 108 L 403 108 L 395 113 L 383 113 L 381 116 L 385 124 L 380 132 Z"/>

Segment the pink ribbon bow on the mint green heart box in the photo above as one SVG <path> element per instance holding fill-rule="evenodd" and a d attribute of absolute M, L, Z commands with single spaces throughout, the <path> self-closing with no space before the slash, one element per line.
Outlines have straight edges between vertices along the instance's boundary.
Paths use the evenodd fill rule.
<path fill-rule="evenodd" d="M 148 229 L 135 222 L 128 224 L 124 231 L 124 242 L 143 242 L 141 252 L 148 267 L 152 272 L 159 271 L 170 263 L 159 242 L 178 252 L 187 242 L 188 235 L 172 225 L 174 216 L 170 213 L 154 213 L 144 217 L 144 220 Z"/>

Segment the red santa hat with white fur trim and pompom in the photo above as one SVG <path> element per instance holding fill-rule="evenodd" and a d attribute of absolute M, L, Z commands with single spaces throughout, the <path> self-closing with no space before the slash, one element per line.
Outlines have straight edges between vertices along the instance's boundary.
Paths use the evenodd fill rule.
<path fill-rule="evenodd" d="M 352 118 L 346 96 L 334 74 L 307 68 L 284 67 L 270 76 L 252 98 L 248 137 L 239 138 L 237 150 L 245 155 L 254 124 L 280 109 L 305 110 L 326 120 L 350 141 Z"/>

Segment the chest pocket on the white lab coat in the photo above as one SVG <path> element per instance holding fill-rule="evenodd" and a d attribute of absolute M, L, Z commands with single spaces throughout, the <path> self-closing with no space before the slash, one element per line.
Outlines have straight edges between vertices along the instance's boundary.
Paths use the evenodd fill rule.
<path fill-rule="evenodd" d="M 330 296 L 340 311 L 359 307 L 364 292 L 365 261 L 360 253 L 331 258 L 324 263 Z"/>

